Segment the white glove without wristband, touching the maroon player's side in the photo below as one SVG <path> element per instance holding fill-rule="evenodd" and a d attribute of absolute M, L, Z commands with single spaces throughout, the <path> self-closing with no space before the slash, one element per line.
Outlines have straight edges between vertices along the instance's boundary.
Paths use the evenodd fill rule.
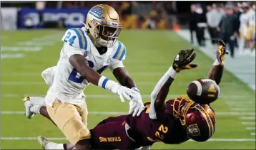
<path fill-rule="evenodd" d="M 145 107 L 142 101 L 142 96 L 139 93 L 139 90 L 136 87 L 132 87 L 132 90 L 135 91 L 136 96 L 132 97 L 132 100 L 129 102 L 128 114 L 132 114 L 132 116 L 135 117 L 136 115 L 139 116 Z"/>

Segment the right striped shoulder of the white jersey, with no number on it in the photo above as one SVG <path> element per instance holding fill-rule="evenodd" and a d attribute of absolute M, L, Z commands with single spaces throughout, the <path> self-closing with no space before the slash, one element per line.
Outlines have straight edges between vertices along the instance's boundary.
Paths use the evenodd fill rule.
<path fill-rule="evenodd" d="M 112 58 L 116 60 L 124 60 L 125 59 L 125 54 L 126 54 L 126 48 L 123 43 L 120 41 L 117 41 L 117 43 L 114 44 L 113 46 L 114 50 L 114 55 Z"/>

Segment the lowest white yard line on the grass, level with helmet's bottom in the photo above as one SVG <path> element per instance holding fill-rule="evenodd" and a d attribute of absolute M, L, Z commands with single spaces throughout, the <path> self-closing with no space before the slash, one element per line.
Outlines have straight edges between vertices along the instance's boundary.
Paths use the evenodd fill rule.
<path fill-rule="evenodd" d="M 63 137 L 49 137 L 46 139 L 57 141 L 67 140 Z M 37 140 L 37 137 L 1 137 L 1 140 Z M 208 141 L 255 141 L 255 139 L 209 139 Z"/>

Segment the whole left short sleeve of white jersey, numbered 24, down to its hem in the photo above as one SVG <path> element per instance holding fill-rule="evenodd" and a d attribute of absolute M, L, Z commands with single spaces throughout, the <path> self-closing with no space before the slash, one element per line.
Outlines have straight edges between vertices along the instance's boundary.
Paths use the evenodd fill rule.
<path fill-rule="evenodd" d="M 64 53 L 68 56 L 79 54 L 84 55 L 88 50 L 87 36 L 81 28 L 70 28 L 64 34 L 62 41 L 64 42 Z"/>

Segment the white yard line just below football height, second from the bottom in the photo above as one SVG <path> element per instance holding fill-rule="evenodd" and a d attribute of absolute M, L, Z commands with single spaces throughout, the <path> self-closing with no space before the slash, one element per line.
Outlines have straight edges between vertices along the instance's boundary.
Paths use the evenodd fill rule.
<path fill-rule="evenodd" d="M 1 114 L 24 114 L 24 111 L 1 111 Z M 128 111 L 127 112 L 89 112 L 89 114 L 128 114 Z M 216 115 L 217 116 L 255 115 L 255 112 L 216 112 Z"/>

